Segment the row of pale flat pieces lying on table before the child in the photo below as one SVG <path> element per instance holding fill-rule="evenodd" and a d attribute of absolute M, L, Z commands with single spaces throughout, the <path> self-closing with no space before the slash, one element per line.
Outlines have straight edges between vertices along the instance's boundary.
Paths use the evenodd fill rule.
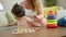
<path fill-rule="evenodd" d="M 21 27 L 21 28 L 15 28 L 12 32 L 12 34 L 23 34 L 23 33 L 35 33 L 35 30 L 33 28 Z"/>

